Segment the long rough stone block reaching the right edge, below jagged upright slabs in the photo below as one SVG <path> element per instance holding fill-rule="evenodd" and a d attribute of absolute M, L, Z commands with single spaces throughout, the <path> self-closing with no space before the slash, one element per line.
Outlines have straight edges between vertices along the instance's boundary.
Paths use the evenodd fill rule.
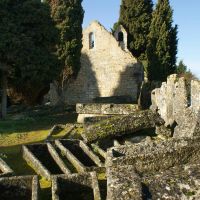
<path fill-rule="evenodd" d="M 137 172 L 156 172 L 200 159 L 200 137 L 170 139 L 111 148 L 106 166 L 133 165 Z"/>

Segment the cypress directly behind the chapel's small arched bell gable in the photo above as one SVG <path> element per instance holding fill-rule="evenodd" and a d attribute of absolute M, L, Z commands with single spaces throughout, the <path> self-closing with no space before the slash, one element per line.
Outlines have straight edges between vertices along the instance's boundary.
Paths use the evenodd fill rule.
<path fill-rule="evenodd" d="M 122 0 L 119 23 L 128 33 L 128 48 L 139 60 L 146 59 L 152 0 Z"/>

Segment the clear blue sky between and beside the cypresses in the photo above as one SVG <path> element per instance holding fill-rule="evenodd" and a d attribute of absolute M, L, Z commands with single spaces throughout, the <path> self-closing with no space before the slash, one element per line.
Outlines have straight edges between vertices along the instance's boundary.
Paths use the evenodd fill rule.
<path fill-rule="evenodd" d="M 83 27 L 98 20 L 108 30 L 118 20 L 121 0 L 83 0 Z M 156 3 L 156 0 L 154 0 Z M 178 24 L 178 60 L 200 78 L 200 0 L 171 0 L 174 23 Z"/>

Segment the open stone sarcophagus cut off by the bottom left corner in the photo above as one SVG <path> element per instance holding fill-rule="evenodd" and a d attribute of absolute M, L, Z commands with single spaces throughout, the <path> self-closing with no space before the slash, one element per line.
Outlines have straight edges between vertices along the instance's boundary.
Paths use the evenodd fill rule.
<path fill-rule="evenodd" d="M 0 178 L 0 199 L 38 200 L 39 181 L 37 176 L 14 176 Z"/>

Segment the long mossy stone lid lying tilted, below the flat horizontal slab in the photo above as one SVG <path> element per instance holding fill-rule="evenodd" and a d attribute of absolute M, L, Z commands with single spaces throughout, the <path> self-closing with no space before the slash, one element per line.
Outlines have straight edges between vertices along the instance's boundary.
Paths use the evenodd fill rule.
<path fill-rule="evenodd" d="M 150 110 L 138 111 L 131 115 L 116 116 L 109 120 L 85 127 L 82 137 L 86 142 L 111 138 L 155 127 L 163 121 Z"/>

